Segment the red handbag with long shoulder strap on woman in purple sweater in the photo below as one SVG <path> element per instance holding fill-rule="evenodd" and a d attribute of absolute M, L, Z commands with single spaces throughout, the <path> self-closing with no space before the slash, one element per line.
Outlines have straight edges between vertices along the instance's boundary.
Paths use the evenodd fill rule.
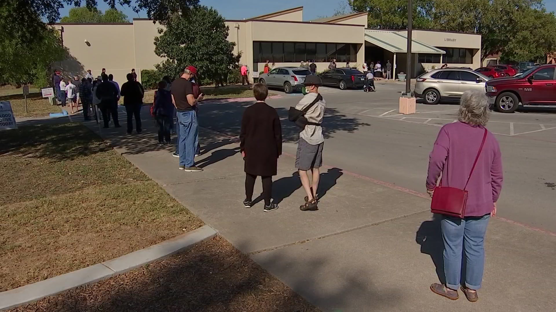
<path fill-rule="evenodd" d="M 467 203 L 468 196 L 468 192 L 465 189 L 467 188 L 471 174 L 473 174 L 477 160 L 479 160 L 479 156 L 483 150 L 485 139 L 486 129 L 483 134 L 483 142 L 481 142 L 479 152 L 477 152 L 475 162 L 473 163 L 473 167 L 471 167 L 471 172 L 469 173 L 469 177 L 467 178 L 467 182 L 465 183 L 463 190 L 452 187 L 443 187 L 442 180 L 440 180 L 440 185 L 434 189 L 433 201 L 430 204 L 431 213 L 450 215 L 451 217 L 458 217 L 461 219 L 465 217 L 465 205 Z"/>

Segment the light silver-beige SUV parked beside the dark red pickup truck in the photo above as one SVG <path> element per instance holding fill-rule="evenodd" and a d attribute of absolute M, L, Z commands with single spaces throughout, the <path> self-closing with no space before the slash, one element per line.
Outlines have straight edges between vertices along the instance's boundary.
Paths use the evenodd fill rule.
<path fill-rule="evenodd" d="M 486 92 L 490 78 L 464 68 L 434 69 L 419 76 L 415 82 L 415 96 L 426 104 L 438 104 L 442 99 L 459 99 L 465 91 Z"/>

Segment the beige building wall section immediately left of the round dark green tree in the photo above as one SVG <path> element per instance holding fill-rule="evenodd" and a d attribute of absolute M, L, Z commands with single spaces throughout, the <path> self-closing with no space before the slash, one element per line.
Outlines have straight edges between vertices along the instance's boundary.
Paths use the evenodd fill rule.
<path fill-rule="evenodd" d="M 138 69 L 154 69 L 155 64 L 162 62 L 163 58 L 155 54 L 155 37 L 158 34 L 158 28 L 165 27 L 152 21 L 142 19 L 133 21 L 133 38 L 135 39 L 135 71 Z"/>

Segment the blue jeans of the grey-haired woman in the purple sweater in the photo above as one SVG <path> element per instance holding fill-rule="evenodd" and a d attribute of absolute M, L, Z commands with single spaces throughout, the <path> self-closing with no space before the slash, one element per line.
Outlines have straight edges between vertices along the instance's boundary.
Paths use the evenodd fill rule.
<path fill-rule="evenodd" d="M 461 251 L 465 249 L 465 286 L 481 288 L 485 264 L 484 237 L 490 214 L 464 219 L 444 216 L 441 221 L 444 241 L 446 286 L 458 289 L 461 284 Z"/>

